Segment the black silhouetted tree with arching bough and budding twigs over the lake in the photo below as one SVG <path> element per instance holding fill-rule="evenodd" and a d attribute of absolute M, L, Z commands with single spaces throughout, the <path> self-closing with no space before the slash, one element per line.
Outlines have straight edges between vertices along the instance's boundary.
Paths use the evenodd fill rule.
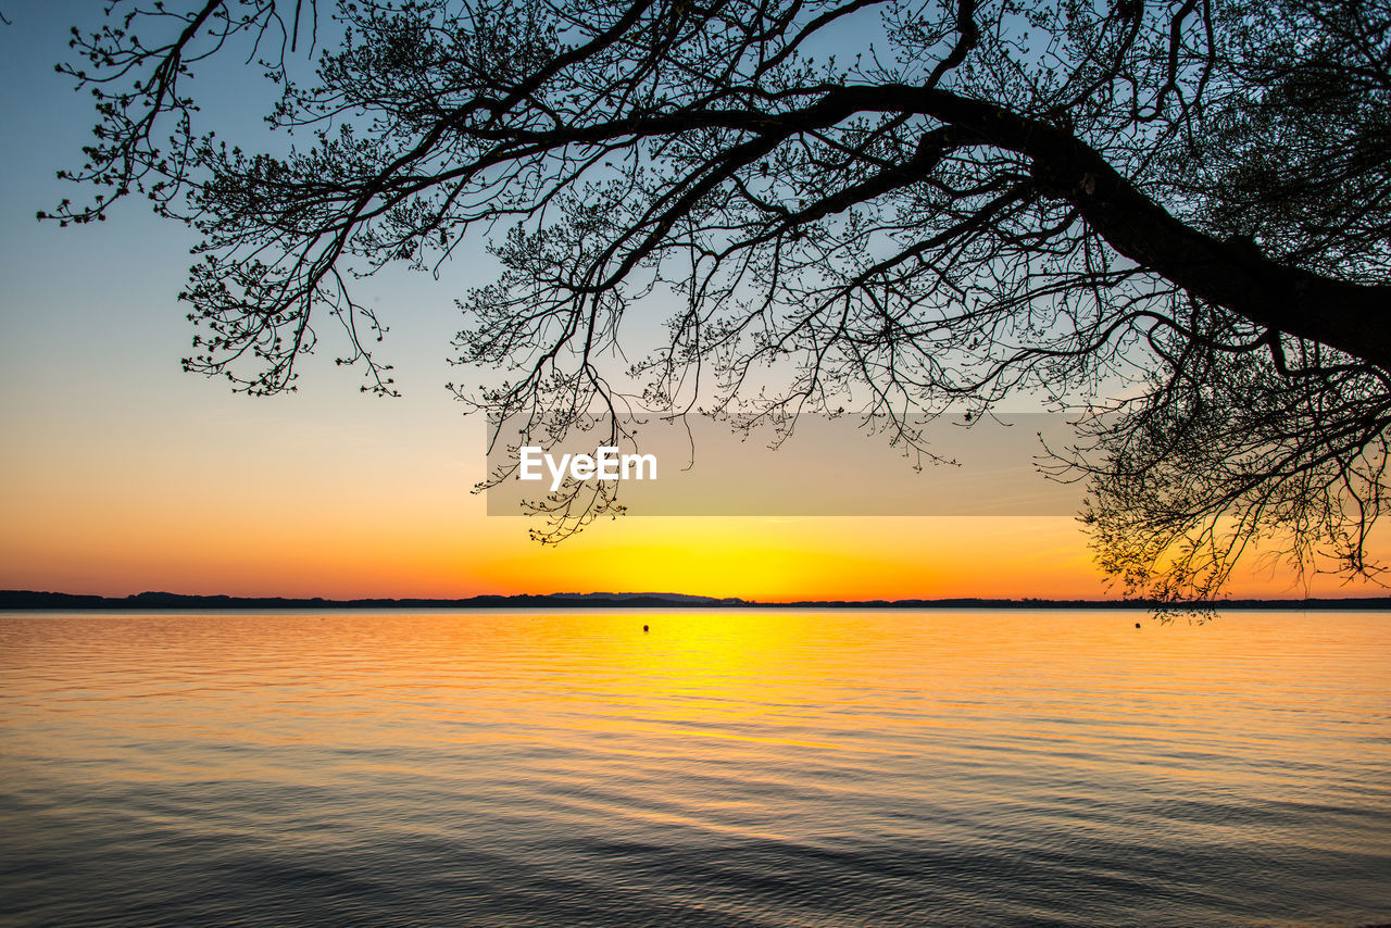
<path fill-rule="evenodd" d="M 392 392 L 353 278 L 483 232 L 456 346 L 508 376 L 453 390 L 495 423 L 849 403 L 912 441 L 1034 391 L 1081 405 L 1128 593 L 1210 597 L 1257 540 L 1377 570 L 1384 0 L 206 0 L 74 35 L 97 195 L 53 218 L 143 192 L 198 227 L 189 370 L 294 388 L 328 314 Z M 186 75 L 238 40 L 300 147 L 195 132 Z M 669 339 L 615 373 L 665 289 Z"/>

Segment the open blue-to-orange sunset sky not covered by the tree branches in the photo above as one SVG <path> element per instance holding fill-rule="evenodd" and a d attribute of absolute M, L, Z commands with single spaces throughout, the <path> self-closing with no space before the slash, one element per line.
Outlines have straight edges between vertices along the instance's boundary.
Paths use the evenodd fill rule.
<path fill-rule="evenodd" d="M 1068 516 L 630 516 L 541 547 L 485 515 L 484 424 L 444 390 L 453 299 L 485 282 L 481 250 L 441 280 L 369 281 L 403 397 L 357 392 L 337 333 L 298 394 L 234 395 L 184 374 L 175 302 L 195 238 L 127 202 L 60 230 L 35 213 L 81 196 L 54 179 L 93 122 L 53 72 L 90 3 L 10 3 L 0 25 L 0 587 L 124 595 L 472 595 L 664 590 L 757 600 L 1100 597 Z M 221 88 L 225 124 L 260 103 Z M 211 109 L 211 107 L 210 107 Z M 223 118 L 223 117 L 220 117 Z M 221 125 L 218 128 L 221 129 Z M 221 132 L 220 132 L 221 134 Z M 886 454 L 889 454 L 886 451 Z M 835 487 L 823 487 L 836 493 Z M 1316 583 L 1324 595 L 1376 589 Z M 1239 595 L 1302 595 L 1253 569 Z"/>

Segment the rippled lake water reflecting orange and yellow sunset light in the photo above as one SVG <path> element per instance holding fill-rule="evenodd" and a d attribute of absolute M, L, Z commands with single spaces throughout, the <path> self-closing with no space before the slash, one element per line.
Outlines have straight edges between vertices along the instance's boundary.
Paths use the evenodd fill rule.
<path fill-rule="evenodd" d="M 1387 614 L 10 614 L 0 760 L 4 924 L 1391 921 Z"/>

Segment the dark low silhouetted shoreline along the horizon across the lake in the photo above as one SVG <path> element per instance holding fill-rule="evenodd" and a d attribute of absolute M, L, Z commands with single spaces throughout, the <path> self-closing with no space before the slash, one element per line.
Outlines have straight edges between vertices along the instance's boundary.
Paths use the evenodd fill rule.
<path fill-rule="evenodd" d="M 373 598 L 325 600 L 288 597 L 189 595 L 181 593 L 138 593 L 125 597 L 0 590 L 0 611 L 170 611 L 170 609 L 1145 609 L 1161 608 L 1156 600 L 992 600 L 954 597 L 943 600 L 803 600 L 758 602 L 740 598 L 686 595 L 679 593 L 552 593 L 548 595 L 474 595 L 458 600 Z M 1189 602 L 1185 608 L 1212 609 L 1391 609 L 1391 597 L 1344 597 L 1309 600 L 1214 600 Z"/>

